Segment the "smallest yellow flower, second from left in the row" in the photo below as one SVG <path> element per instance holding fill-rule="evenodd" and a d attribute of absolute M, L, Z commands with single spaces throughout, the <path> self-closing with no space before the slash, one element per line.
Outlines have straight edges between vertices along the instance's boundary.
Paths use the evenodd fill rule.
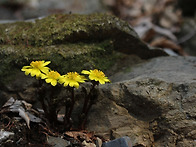
<path fill-rule="evenodd" d="M 52 86 L 56 86 L 60 74 L 57 71 L 50 71 L 46 74 L 41 74 L 41 78 L 45 79 L 46 83 L 51 83 Z"/>

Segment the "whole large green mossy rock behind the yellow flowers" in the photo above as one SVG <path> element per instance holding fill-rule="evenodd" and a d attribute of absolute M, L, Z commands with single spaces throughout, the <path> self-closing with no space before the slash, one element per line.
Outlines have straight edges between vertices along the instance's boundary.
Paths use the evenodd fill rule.
<path fill-rule="evenodd" d="M 60 73 L 109 69 L 116 51 L 142 58 L 151 51 L 128 23 L 105 14 L 56 14 L 35 22 L 0 24 L 0 80 L 13 77 L 32 60 L 50 60 Z M 12 78 L 11 78 L 12 79 Z"/>

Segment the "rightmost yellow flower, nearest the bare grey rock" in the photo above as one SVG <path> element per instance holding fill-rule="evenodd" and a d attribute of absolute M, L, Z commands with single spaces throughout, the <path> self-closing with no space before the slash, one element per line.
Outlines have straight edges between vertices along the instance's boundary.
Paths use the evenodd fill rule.
<path fill-rule="evenodd" d="M 90 80 L 98 81 L 100 84 L 105 84 L 105 82 L 110 82 L 108 77 L 106 77 L 105 74 L 98 69 L 94 69 L 90 71 L 83 70 L 82 73 L 89 75 Z"/>

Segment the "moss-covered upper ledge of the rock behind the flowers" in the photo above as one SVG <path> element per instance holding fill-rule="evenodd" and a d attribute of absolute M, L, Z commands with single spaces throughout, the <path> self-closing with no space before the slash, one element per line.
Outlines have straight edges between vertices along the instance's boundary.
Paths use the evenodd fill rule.
<path fill-rule="evenodd" d="M 124 31 L 134 31 L 118 18 L 106 14 L 56 14 L 41 20 L 0 25 L 1 44 L 46 46 L 78 41 L 98 41 L 114 38 Z"/>

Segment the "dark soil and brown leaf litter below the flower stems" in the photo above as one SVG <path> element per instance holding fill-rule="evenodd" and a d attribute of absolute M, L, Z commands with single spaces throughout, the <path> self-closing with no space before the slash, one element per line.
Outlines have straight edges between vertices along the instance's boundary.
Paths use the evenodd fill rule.
<path fill-rule="evenodd" d="M 96 144 L 97 138 L 104 140 L 100 136 L 94 135 L 93 132 L 88 132 L 86 130 L 70 130 L 59 132 L 53 128 L 49 128 L 44 122 L 39 123 L 30 123 L 30 129 L 28 128 L 24 119 L 18 116 L 17 113 L 0 113 L 0 131 L 12 132 L 14 135 L 10 135 L 8 138 L 2 140 L 0 133 L 0 146 L 1 147 L 52 147 L 48 143 L 48 136 L 54 137 L 52 142 L 56 144 L 61 144 L 62 140 L 67 142 L 61 144 L 62 146 L 67 147 L 82 147 L 83 141 L 86 141 L 87 144 Z M 58 139 L 61 138 L 61 141 Z M 50 142 L 51 142 L 50 141 Z M 58 145 L 57 145 L 58 146 Z"/>

